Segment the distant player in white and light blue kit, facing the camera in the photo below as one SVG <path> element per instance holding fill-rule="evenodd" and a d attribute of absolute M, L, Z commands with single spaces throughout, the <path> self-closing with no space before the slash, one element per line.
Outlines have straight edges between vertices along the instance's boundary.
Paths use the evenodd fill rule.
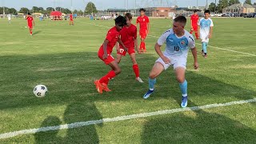
<path fill-rule="evenodd" d="M 213 32 L 214 22 L 210 19 L 210 10 L 205 10 L 205 17 L 198 22 L 199 34 L 202 40 L 202 54 L 207 58 L 207 45 Z"/>

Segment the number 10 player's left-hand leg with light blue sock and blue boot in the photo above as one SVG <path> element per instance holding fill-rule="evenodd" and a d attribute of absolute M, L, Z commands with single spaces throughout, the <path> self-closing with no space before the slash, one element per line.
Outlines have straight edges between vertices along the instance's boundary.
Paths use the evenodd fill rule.
<path fill-rule="evenodd" d="M 148 90 L 146 92 L 146 94 L 144 94 L 143 98 L 149 98 L 150 94 L 154 93 L 154 84 L 157 82 L 157 77 L 159 74 L 162 73 L 163 70 L 166 70 L 168 68 L 168 66 L 164 66 L 166 64 L 164 64 L 164 62 L 161 62 L 162 58 L 158 58 L 157 62 L 154 63 L 154 66 L 152 68 L 152 70 L 150 71 L 150 77 L 149 77 L 149 88 L 150 90 Z"/>

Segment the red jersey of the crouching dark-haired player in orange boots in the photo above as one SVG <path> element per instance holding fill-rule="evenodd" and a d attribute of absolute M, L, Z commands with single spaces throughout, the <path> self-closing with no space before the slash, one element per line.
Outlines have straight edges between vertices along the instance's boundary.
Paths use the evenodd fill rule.
<path fill-rule="evenodd" d="M 112 53 L 113 47 L 114 45 L 118 42 L 118 38 L 119 38 L 120 33 L 118 32 L 117 28 L 114 26 L 112 27 L 106 34 L 106 39 L 109 41 L 107 43 L 107 48 L 106 51 L 108 54 Z M 102 46 L 99 48 L 99 51 L 104 53 L 103 50 L 103 44 Z"/>

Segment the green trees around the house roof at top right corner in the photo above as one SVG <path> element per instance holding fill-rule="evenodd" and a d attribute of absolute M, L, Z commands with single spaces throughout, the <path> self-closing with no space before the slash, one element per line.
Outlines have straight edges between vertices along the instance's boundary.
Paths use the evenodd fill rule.
<path fill-rule="evenodd" d="M 222 13 L 222 9 L 224 9 L 227 6 L 234 5 L 236 3 L 241 3 L 241 2 L 239 0 L 218 0 L 218 4 L 216 3 L 216 5 L 214 2 L 210 3 L 209 10 L 212 12 L 216 11 L 218 13 Z M 256 6 L 256 2 L 252 4 L 251 0 L 246 0 L 244 3 Z"/>

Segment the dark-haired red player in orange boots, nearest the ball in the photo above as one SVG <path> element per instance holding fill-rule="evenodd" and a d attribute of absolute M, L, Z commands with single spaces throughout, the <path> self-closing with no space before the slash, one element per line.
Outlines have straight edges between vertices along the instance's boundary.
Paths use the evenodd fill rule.
<path fill-rule="evenodd" d="M 126 18 L 118 16 L 118 18 L 114 19 L 114 22 L 115 26 L 108 31 L 105 41 L 98 50 L 98 58 L 101 58 L 106 65 L 109 65 L 112 68 L 108 74 L 99 80 L 94 81 L 96 89 L 100 94 L 102 94 L 102 90 L 110 91 L 110 89 L 107 87 L 110 79 L 121 73 L 118 62 L 111 55 L 116 42 L 119 42 L 119 44 L 124 47 L 124 50 L 127 50 L 126 46 L 123 45 L 121 39 L 119 38 L 120 30 L 122 30 L 122 27 L 126 25 Z"/>

